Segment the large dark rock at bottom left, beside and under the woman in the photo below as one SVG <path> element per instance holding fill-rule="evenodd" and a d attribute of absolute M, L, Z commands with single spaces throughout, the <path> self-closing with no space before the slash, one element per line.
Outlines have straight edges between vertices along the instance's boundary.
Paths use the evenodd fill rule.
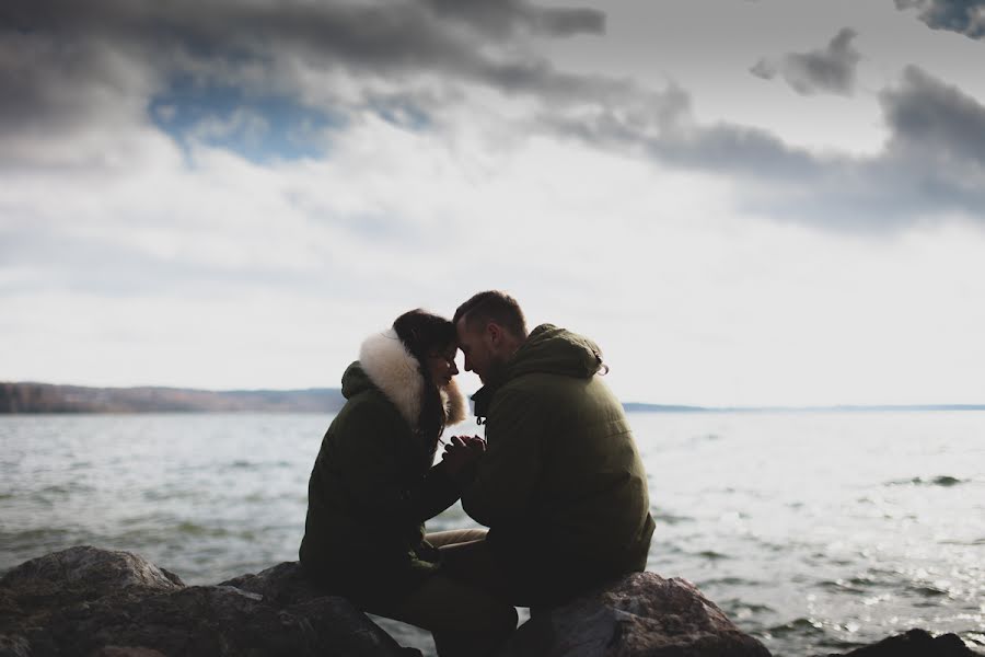
<path fill-rule="evenodd" d="M 317 595 L 297 564 L 231 581 L 247 589 L 185 586 L 127 552 L 48 554 L 0 579 L 0 657 L 407 655 L 345 599 Z"/>

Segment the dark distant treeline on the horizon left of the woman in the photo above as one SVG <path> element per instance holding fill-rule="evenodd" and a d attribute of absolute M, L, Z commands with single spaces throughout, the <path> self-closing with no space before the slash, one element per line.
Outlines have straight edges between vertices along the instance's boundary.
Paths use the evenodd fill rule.
<path fill-rule="evenodd" d="M 2 413 L 294 412 L 335 413 L 336 388 L 209 391 L 181 388 L 83 388 L 0 382 Z"/>

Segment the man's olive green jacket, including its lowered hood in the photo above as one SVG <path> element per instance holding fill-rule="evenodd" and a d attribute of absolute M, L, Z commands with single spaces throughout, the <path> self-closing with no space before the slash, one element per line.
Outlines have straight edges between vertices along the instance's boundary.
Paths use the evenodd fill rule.
<path fill-rule="evenodd" d="M 462 497 L 501 557 L 575 585 L 644 569 L 653 532 L 646 473 L 600 366 L 591 341 L 535 328 L 476 395 L 488 447 Z"/>

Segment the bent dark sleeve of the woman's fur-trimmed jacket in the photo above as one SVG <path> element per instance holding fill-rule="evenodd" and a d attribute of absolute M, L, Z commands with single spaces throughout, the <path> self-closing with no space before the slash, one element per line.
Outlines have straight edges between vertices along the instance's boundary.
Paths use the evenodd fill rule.
<path fill-rule="evenodd" d="M 459 498 L 459 485 L 439 463 L 407 482 L 408 451 L 399 449 L 392 423 L 366 407 L 349 418 L 339 474 L 350 503 L 382 522 L 420 523 Z M 403 431 L 399 431 L 403 434 Z"/>

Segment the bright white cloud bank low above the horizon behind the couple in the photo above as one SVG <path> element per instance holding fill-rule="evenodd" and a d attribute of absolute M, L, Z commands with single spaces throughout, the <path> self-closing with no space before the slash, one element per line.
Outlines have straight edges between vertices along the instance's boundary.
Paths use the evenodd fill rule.
<path fill-rule="evenodd" d="M 8 376 L 329 385 L 361 336 L 406 308 L 450 314 L 505 287 L 532 321 L 600 342 L 627 400 L 973 401 L 980 232 L 818 234 L 741 216 L 728 178 L 577 142 L 490 151 L 484 139 L 461 126 L 449 146 L 368 119 L 323 162 L 263 168 L 202 150 L 194 175 L 175 165 L 104 185 L 79 230 L 157 258 L 160 278 L 135 293 L 74 289 L 86 265 L 130 284 L 147 272 L 139 257 L 116 268 L 79 254 L 47 291 L 8 292 Z M 84 196 L 69 189 L 65 206 L 44 204 L 50 220 Z"/>

